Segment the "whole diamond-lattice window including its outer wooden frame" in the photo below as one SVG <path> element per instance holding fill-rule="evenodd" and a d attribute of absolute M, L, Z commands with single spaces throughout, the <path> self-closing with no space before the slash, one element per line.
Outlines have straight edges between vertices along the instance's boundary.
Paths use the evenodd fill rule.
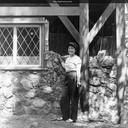
<path fill-rule="evenodd" d="M 49 22 L 41 18 L 0 19 L 0 69 L 42 69 L 49 50 Z"/>

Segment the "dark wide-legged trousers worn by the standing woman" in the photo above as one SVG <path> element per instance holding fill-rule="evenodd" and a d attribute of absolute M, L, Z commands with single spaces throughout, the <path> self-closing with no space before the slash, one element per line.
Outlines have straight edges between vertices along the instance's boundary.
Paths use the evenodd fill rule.
<path fill-rule="evenodd" d="M 60 107 L 63 120 L 72 119 L 77 120 L 78 111 L 78 87 L 76 72 L 66 73 L 65 86 L 63 88 L 62 97 L 60 100 Z"/>

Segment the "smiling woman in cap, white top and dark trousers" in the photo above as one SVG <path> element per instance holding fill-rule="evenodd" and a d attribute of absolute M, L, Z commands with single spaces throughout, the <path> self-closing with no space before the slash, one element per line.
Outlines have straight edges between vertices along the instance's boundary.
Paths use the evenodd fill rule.
<path fill-rule="evenodd" d="M 61 61 L 62 67 L 66 71 L 65 86 L 60 100 L 62 117 L 59 120 L 66 122 L 76 122 L 79 99 L 80 86 L 80 70 L 81 59 L 76 55 L 78 45 L 74 42 L 69 42 L 69 56 L 65 62 Z"/>

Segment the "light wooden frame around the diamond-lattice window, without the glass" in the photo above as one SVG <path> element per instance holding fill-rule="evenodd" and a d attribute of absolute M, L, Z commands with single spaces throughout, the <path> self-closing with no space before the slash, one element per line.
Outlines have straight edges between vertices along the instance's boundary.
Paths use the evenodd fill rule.
<path fill-rule="evenodd" d="M 12 26 L 13 29 L 16 29 L 16 27 L 21 26 L 39 26 L 40 33 L 40 44 L 39 44 L 39 65 L 0 65 L 0 69 L 4 70 L 41 70 L 44 69 L 43 62 L 44 62 L 44 52 L 49 50 L 49 22 L 44 18 L 1 18 L 0 19 L 0 27 L 1 26 Z M 14 34 L 14 33 L 13 33 Z M 14 39 L 13 35 L 13 45 L 17 45 L 16 41 L 17 39 Z M 17 51 L 16 47 L 13 46 L 13 48 Z M 13 49 L 12 52 L 15 52 Z M 14 55 L 13 55 L 14 56 Z M 15 56 L 17 57 L 17 56 Z M 16 58 L 14 58 L 16 60 Z"/>

